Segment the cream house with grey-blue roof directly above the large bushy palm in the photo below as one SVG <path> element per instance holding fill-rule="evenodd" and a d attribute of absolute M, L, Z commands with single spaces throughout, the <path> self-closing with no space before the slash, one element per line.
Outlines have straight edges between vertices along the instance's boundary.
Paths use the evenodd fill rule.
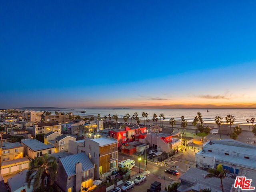
<path fill-rule="evenodd" d="M 55 149 L 53 145 L 46 145 L 36 139 L 24 139 L 21 140 L 21 144 L 24 146 L 24 154 L 31 159 L 41 157 L 44 154 L 52 154 Z"/>

